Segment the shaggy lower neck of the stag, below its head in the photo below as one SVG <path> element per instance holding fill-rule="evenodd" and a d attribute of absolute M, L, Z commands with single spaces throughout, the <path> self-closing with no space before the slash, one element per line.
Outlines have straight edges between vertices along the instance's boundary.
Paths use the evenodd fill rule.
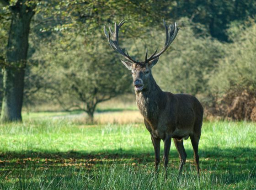
<path fill-rule="evenodd" d="M 136 103 L 140 113 L 147 121 L 154 121 L 159 113 L 159 105 L 163 91 L 156 84 L 155 79 L 151 75 L 149 77 L 147 89 L 135 91 Z"/>

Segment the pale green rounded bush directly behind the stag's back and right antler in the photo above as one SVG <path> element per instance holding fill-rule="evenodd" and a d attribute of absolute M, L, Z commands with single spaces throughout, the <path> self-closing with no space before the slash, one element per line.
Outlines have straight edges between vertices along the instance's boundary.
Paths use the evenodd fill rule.
<path fill-rule="evenodd" d="M 154 68 L 155 78 L 164 90 L 173 93 L 204 94 L 214 68 L 224 55 L 222 44 L 208 37 L 203 26 L 194 25 L 186 18 L 178 24 L 180 30 L 175 42 Z M 195 33 L 195 30 L 202 32 Z M 165 38 L 161 37 L 163 41 Z"/>

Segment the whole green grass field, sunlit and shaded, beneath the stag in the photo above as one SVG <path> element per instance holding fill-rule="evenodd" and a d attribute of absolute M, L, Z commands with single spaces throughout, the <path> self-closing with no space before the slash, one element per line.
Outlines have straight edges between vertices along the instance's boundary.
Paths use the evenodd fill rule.
<path fill-rule="evenodd" d="M 0 189 L 255 190 L 255 137 L 255 123 L 204 122 L 200 178 L 188 139 L 182 176 L 178 176 L 179 158 L 172 143 L 165 181 L 162 166 L 160 175 L 154 174 L 154 150 L 143 124 L 25 119 L 0 125 Z"/>

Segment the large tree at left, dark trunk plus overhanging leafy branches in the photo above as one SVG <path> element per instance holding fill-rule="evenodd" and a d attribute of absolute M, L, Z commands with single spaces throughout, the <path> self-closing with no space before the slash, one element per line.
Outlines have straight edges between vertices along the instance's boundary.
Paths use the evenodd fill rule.
<path fill-rule="evenodd" d="M 165 2 L 167 3 L 167 1 Z M 5 49 L 6 53 L 4 53 L 4 63 L 6 64 L 2 65 L 4 92 L 1 121 L 21 121 L 28 36 L 35 13 L 39 17 L 46 18 L 42 19 L 41 17 L 40 22 L 37 23 L 38 26 L 44 24 L 40 28 L 40 32 L 37 31 L 38 36 L 49 37 L 53 32 L 68 31 L 68 29 L 75 31 L 73 33 L 75 35 L 80 32 L 92 34 L 95 29 L 99 31 L 102 28 L 99 24 L 100 21 L 107 21 L 119 16 L 122 18 L 127 16 L 128 19 L 136 21 L 145 18 L 145 23 L 151 23 L 156 20 L 156 16 L 160 17 L 159 8 L 162 7 L 155 6 L 157 5 L 156 0 L 145 3 L 135 0 L 128 1 L 128 4 L 126 0 L 109 2 L 105 0 L 0 0 L 0 5 L 9 11 L 6 12 L 10 13 L 9 17 L 11 17 L 8 43 Z M 134 12 L 134 9 L 138 10 Z M 115 11 L 113 12 L 113 10 Z M 2 18 L 2 13 L 0 15 L 0 19 L 4 21 L 7 21 L 9 17 Z M 121 19 L 119 18 L 119 20 Z M 47 35 L 43 35 L 43 32 Z"/>

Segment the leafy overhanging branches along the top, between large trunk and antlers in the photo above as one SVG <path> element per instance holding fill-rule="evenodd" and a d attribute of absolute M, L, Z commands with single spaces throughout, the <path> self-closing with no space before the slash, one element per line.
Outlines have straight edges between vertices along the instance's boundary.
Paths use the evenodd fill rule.
<path fill-rule="evenodd" d="M 104 24 L 125 19 L 128 21 L 129 37 L 139 35 L 143 26 L 152 26 L 162 19 L 168 1 L 157 0 L 53 0 L 37 5 L 35 29 L 37 36 L 52 37 L 52 33 L 82 35 L 86 42 L 93 42 L 95 33 L 102 33 Z M 154 13 L 154 14 L 152 14 Z M 37 23 L 39 21 L 39 23 Z M 139 26 L 139 27 L 134 27 Z M 60 38 L 59 40 L 63 40 Z"/>

